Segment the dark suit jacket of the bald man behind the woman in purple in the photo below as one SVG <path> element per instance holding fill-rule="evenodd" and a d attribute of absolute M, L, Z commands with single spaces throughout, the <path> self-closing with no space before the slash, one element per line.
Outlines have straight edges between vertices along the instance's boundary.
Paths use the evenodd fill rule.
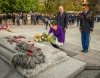
<path fill-rule="evenodd" d="M 56 21 L 57 21 L 58 25 L 61 26 L 63 29 L 67 28 L 67 25 L 68 25 L 68 14 L 63 12 L 63 14 L 61 15 L 61 13 L 59 12 L 57 14 Z"/>

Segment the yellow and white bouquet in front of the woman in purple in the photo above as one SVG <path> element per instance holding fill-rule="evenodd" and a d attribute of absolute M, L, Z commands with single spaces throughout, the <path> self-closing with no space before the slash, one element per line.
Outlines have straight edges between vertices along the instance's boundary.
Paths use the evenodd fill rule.
<path fill-rule="evenodd" d="M 54 43 L 56 39 L 55 39 L 54 35 L 48 36 L 48 34 L 46 34 L 44 32 L 44 33 L 42 33 L 42 35 L 36 34 L 34 36 L 34 40 L 36 42 L 51 42 L 51 43 Z"/>

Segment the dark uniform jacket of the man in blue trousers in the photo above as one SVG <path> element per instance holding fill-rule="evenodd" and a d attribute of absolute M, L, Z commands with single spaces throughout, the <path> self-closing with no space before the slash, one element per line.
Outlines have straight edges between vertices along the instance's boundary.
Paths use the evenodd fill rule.
<path fill-rule="evenodd" d="M 91 16 L 90 16 L 91 15 Z M 89 33 L 94 28 L 94 16 L 90 12 L 82 13 L 80 16 L 80 30 L 83 33 Z"/>

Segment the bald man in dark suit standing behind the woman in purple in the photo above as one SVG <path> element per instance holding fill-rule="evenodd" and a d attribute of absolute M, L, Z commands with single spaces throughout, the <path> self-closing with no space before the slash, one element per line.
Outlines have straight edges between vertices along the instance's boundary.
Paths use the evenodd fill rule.
<path fill-rule="evenodd" d="M 61 26 L 65 33 L 68 25 L 68 14 L 64 12 L 63 6 L 59 7 L 59 11 L 60 12 L 57 13 L 56 21 L 58 26 Z"/>

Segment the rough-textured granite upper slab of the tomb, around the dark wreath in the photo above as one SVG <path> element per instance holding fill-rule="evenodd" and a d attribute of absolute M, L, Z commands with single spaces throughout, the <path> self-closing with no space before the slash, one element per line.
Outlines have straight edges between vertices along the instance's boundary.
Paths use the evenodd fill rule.
<path fill-rule="evenodd" d="M 14 34 L 13 34 L 14 35 Z M 12 36 L 13 36 L 12 35 Z M 7 42 L 6 39 L 4 39 L 3 37 L 0 38 L 1 42 L 0 45 L 3 45 L 4 47 L 0 47 L 0 49 L 2 50 L 0 52 L 0 54 L 5 57 L 8 62 L 10 63 L 10 60 L 12 58 L 12 56 L 16 53 L 18 53 L 18 51 L 15 49 L 16 44 L 9 44 L 9 42 Z M 24 39 L 24 41 L 28 41 L 28 39 Z M 20 67 L 18 67 L 18 71 L 22 74 L 25 75 L 26 77 L 30 77 L 33 76 L 35 77 L 36 75 L 38 75 L 40 72 L 48 69 L 48 67 L 51 67 L 57 63 L 62 62 L 63 60 L 68 60 L 68 56 L 65 52 L 62 52 L 58 49 L 55 49 L 51 46 L 47 46 L 43 43 L 37 43 L 37 42 L 33 42 L 33 40 L 31 40 L 31 42 L 29 44 L 33 44 L 35 47 L 39 47 L 42 49 L 43 54 L 45 55 L 45 63 L 42 64 L 37 64 L 36 68 L 34 69 L 22 69 Z M 6 48 L 5 48 L 6 47 Z M 14 51 L 14 52 L 12 52 Z"/>

